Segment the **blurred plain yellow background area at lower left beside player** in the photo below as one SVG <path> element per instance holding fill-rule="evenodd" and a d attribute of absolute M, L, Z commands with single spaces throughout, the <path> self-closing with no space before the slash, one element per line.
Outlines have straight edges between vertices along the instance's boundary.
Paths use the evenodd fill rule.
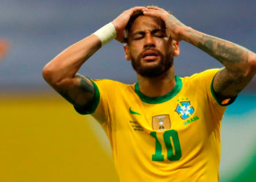
<path fill-rule="evenodd" d="M 118 181 L 85 116 L 59 95 L 1 95 L 0 181 Z"/>

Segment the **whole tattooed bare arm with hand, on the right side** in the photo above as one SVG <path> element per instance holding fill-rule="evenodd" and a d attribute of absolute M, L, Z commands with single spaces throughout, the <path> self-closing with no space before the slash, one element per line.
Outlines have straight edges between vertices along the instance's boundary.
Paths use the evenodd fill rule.
<path fill-rule="evenodd" d="M 161 18 L 165 22 L 167 36 L 171 36 L 176 41 L 184 40 L 195 45 L 225 66 L 214 77 L 213 82 L 213 89 L 217 93 L 219 103 L 238 95 L 255 76 L 255 52 L 230 41 L 195 31 L 170 15 L 165 9 L 147 7 L 143 9 L 143 14 Z"/>

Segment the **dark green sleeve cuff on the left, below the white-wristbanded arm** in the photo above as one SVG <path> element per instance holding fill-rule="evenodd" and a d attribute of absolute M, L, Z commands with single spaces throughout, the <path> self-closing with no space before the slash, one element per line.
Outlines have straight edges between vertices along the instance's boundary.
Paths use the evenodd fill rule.
<path fill-rule="evenodd" d="M 99 105 L 99 88 L 97 87 L 97 84 L 94 83 L 94 81 L 91 80 L 91 83 L 94 84 L 94 98 L 91 100 L 91 102 L 84 106 L 84 107 L 75 107 L 75 111 L 77 111 L 79 114 L 93 114 L 94 111 L 96 111 L 97 106 Z"/>

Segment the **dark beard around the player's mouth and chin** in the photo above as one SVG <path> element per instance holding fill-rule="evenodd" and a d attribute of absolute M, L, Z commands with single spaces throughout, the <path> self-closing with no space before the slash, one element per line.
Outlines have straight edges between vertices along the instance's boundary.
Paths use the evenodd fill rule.
<path fill-rule="evenodd" d="M 140 74 L 140 76 L 148 77 L 148 78 L 154 78 L 157 76 L 160 76 L 164 74 L 166 71 L 170 69 L 171 66 L 173 66 L 173 53 L 168 52 L 167 55 L 162 55 L 161 52 L 158 50 L 155 50 L 158 52 L 160 62 L 156 66 L 143 66 L 141 64 L 142 54 L 138 56 L 138 58 L 134 58 L 131 55 L 132 60 L 132 68 Z"/>

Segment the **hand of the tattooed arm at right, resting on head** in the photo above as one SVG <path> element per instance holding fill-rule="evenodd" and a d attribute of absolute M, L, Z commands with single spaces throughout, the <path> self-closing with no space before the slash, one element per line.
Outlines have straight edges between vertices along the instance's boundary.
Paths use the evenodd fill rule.
<path fill-rule="evenodd" d="M 185 27 L 176 17 L 159 7 L 143 9 L 144 15 L 159 17 L 165 22 L 167 36 L 176 41 L 181 41 L 181 29 Z"/>

